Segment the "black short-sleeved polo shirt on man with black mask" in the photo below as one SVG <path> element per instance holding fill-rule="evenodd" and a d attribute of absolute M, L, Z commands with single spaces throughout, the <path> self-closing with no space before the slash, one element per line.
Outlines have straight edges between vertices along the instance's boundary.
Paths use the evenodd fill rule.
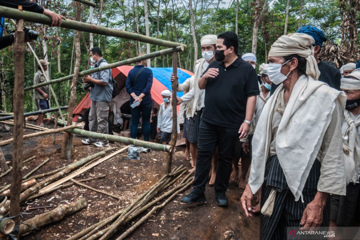
<path fill-rule="evenodd" d="M 201 119 L 219 126 L 240 128 L 246 115 L 247 98 L 260 94 L 255 69 L 240 56 L 227 68 L 216 60 L 206 71 L 209 68 L 218 68 L 219 75 L 208 78 Z"/>

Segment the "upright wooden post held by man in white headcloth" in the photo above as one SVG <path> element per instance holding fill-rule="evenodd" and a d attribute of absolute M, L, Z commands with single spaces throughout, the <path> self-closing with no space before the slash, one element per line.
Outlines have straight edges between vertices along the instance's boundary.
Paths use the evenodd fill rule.
<path fill-rule="evenodd" d="M 172 73 L 174 76 L 177 76 L 177 52 L 172 53 Z M 177 139 L 177 99 L 176 99 L 176 92 L 177 92 L 177 77 L 175 77 L 175 81 L 171 84 L 172 90 L 172 133 L 171 133 L 171 140 L 169 145 L 171 146 L 170 153 L 164 153 L 165 162 L 164 162 L 164 172 L 163 173 L 170 173 L 171 172 L 171 164 L 172 164 L 172 155 L 174 153 L 174 147 L 176 144 Z"/>

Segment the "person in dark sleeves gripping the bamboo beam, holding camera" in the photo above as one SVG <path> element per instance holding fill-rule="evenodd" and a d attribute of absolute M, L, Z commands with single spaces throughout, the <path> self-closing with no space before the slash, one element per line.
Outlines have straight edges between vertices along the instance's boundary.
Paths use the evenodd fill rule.
<path fill-rule="evenodd" d="M 41 13 L 48 15 L 52 20 L 51 26 L 61 26 L 62 19 L 65 19 L 65 17 L 54 13 L 53 11 L 50 11 L 49 9 L 45 9 L 42 6 L 37 5 L 37 3 L 30 3 L 27 0 L 0 0 L 0 6 L 6 6 L 9 8 L 18 8 L 18 6 L 22 6 L 23 10 L 34 12 L 34 13 Z M 2 19 L 1 19 L 2 20 Z M 2 35 L 2 30 L 4 29 L 4 21 L 1 21 L 0 26 L 0 49 L 3 49 L 5 47 L 8 47 L 14 43 L 14 33 L 9 34 L 7 36 Z M 24 28 L 25 32 L 25 42 L 36 40 L 38 33 L 36 31 L 29 30 L 28 28 Z"/>

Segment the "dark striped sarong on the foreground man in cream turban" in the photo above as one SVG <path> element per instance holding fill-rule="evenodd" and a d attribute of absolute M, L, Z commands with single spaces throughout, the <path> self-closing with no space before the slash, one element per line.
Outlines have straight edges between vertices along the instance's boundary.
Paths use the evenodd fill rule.
<path fill-rule="evenodd" d="M 290 239 L 287 227 L 299 227 L 303 211 L 315 197 L 320 178 L 321 164 L 314 161 L 302 191 L 304 203 L 301 199 L 295 201 L 280 166 L 277 155 L 271 156 L 265 167 L 265 181 L 261 190 L 261 208 L 270 195 L 276 190 L 274 210 L 271 217 L 260 214 L 260 239 Z M 329 199 L 324 209 L 322 227 L 329 226 Z"/>

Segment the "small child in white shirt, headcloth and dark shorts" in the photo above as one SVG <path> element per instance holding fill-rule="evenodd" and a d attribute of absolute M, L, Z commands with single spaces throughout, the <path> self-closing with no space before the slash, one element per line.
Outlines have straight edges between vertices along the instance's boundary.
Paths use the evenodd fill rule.
<path fill-rule="evenodd" d="M 172 107 L 171 107 L 171 91 L 165 89 L 161 92 L 163 103 L 159 107 L 157 131 L 161 131 L 161 143 L 168 144 L 171 140 L 172 133 Z M 175 113 L 177 115 L 177 113 Z M 180 133 L 179 121 L 177 121 L 177 133 Z"/>

